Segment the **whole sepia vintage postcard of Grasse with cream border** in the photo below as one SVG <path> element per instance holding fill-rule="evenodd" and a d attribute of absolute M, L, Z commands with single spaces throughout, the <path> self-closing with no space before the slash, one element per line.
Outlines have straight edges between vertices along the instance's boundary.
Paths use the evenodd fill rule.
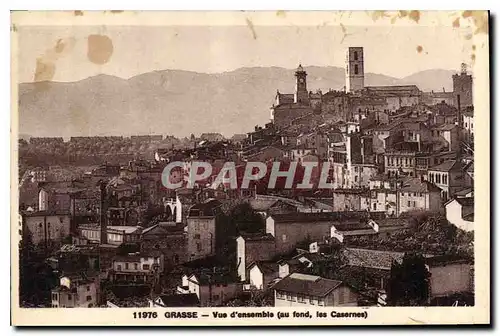
<path fill-rule="evenodd" d="M 490 323 L 488 11 L 11 16 L 13 325 Z"/>

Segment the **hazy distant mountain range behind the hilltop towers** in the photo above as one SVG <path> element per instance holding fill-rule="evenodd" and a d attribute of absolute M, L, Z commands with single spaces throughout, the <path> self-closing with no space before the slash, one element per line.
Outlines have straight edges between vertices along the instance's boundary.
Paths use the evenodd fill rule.
<path fill-rule="evenodd" d="M 340 90 L 344 69 L 307 67 L 308 89 Z M 426 70 L 405 78 L 367 73 L 365 85 L 415 84 L 452 89 L 452 70 Z M 19 132 L 31 136 L 88 136 L 219 132 L 246 133 L 269 121 L 276 90 L 294 91 L 293 69 L 240 68 L 205 74 L 182 70 L 129 79 L 98 75 L 77 82 L 19 84 Z"/>

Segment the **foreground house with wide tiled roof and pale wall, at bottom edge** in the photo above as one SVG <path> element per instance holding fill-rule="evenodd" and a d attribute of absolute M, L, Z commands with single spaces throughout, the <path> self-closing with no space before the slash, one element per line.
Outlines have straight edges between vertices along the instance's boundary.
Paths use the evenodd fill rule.
<path fill-rule="evenodd" d="M 273 286 L 275 307 L 353 307 L 358 295 L 339 280 L 292 273 Z"/>

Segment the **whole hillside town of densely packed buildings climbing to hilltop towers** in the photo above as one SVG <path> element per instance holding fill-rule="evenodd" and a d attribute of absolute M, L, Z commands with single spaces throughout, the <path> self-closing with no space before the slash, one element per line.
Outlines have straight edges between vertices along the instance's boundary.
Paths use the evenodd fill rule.
<path fill-rule="evenodd" d="M 247 134 L 20 139 L 21 306 L 474 305 L 473 76 L 366 86 L 365 56 L 327 92 L 298 65 Z M 165 187 L 195 161 L 211 174 Z M 301 173 L 231 188 L 226 162 Z"/>

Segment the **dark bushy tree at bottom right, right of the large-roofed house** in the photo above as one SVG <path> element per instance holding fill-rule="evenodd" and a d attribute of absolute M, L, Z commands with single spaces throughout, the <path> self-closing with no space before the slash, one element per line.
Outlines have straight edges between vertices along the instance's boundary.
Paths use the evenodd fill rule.
<path fill-rule="evenodd" d="M 394 262 L 388 287 L 391 306 L 422 306 L 429 297 L 429 277 L 425 259 L 417 253 L 405 253 L 401 263 Z"/>

